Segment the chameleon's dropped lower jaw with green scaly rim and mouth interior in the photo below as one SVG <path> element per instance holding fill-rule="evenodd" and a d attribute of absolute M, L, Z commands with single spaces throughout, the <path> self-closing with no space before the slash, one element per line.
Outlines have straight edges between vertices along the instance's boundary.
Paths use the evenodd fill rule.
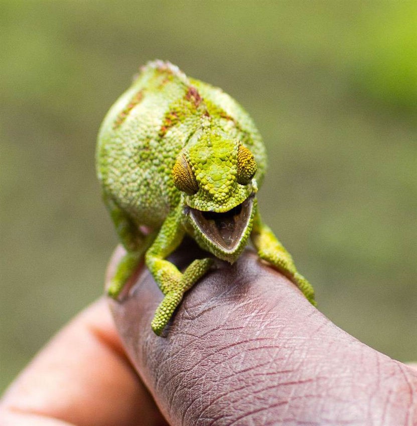
<path fill-rule="evenodd" d="M 233 262 L 250 234 L 254 194 L 228 211 L 202 211 L 189 207 L 189 217 L 195 231 L 220 259 Z"/>

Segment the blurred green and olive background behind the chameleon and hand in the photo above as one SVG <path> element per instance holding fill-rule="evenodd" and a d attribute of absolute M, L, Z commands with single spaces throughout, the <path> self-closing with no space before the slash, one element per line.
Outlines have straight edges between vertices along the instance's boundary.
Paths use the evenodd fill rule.
<path fill-rule="evenodd" d="M 417 359 L 417 3 L 3 0 L 0 17 L 0 390 L 102 293 L 95 138 L 155 58 L 254 118 L 261 211 L 319 309 Z"/>

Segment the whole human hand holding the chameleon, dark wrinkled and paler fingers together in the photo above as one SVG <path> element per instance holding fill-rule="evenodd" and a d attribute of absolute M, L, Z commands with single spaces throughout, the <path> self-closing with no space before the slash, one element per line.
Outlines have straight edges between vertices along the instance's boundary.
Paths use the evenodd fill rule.
<path fill-rule="evenodd" d="M 184 266 L 197 251 L 173 260 Z M 162 294 L 143 267 L 109 301 L 142 380 L 100 301 L 17 379 L 0 425 L 417 425 L 417 370 L 336 327 L 253 252 L 217 267 L 164 337 L 150 327 Z"/>

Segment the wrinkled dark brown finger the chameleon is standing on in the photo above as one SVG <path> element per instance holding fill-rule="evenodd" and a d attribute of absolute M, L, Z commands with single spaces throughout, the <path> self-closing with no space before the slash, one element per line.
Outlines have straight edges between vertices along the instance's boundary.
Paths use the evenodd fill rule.
<path fill-rule="evenodd" d="M 404 366 L 404 377 L 401 364 L 330 323 L 250 252 L 197 283 L 164 338 L 150 330 L 160 300 L 144 271 L 130 297 L 111 306 L 172 424 L 417 424 L 406 414 L 417 373 Z M 396 397 L 386 407 L 388 395 Z"/>

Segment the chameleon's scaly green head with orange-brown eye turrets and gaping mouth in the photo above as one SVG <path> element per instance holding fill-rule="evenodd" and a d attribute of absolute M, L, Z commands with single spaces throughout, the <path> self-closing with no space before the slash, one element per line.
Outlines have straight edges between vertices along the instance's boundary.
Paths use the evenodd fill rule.
<path fill-rule="evenodd" d="M 186 225 L 195 240 L 216 257 L 234 262 L 252 229 L 257 185 L 253 154 L 221 131 L 199 131 L 173 168 L 182 191 Z"/>

